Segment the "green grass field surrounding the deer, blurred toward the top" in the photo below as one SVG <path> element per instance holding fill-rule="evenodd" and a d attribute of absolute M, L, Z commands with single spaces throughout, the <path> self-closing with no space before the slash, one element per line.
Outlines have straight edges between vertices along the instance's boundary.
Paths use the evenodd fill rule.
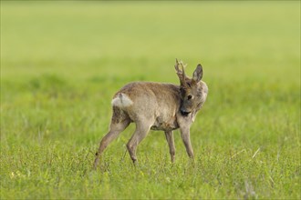
<path fill-rule="evenodd" d="M 194 165 L 134 125 L 92 163 L 112 95 L 202 63 Z M 300 199 L 300 2 L 1 1 L 1 199 Z"/>

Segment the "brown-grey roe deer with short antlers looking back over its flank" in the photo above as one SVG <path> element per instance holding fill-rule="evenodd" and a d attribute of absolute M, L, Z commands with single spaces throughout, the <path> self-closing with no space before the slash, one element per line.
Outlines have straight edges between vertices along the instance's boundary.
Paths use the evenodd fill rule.
<path fill-rule="evenodd" d="M 180 128 L 187 154 L 193 158 L 190 126 L 206 100 L 208 87 L 201 81 L 202 65 L 197 65 L 192 78 L 185 75 L 184 67 L 182 61 L 176 60 L 175 69 L 180 79 L 180 86 L 134 82 L 125 85 L 114 95 L 111 102 L 113 114 L 109 133 L 100 142 L 94 162 L 95 168 L 99 163 L 99 156 L 107 145 L 132 122 L 136 124 L 136 130 L 131 136 L 127 148 L 134 164 L 137 161 L 137 145 L 150 129 L 165 132 L 170 148 L 171 162 L 174 162 L 175 147 L 172 131 Z"/>

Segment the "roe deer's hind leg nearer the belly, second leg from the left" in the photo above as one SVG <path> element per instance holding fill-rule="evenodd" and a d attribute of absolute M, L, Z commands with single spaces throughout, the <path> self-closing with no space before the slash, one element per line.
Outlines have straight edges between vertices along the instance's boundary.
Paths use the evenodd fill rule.
<path fill-rule="evenodd" d="M 130 141 L 127 144 L 128 151 L 130 153 L 130 158 L 135 164 L 137 161 L 136 157 L 136 149 L 140 142 L 148 135 L 150 131 L 150 123 L 141 123 L 136 122 L 136 130 L 134 134 L 131 136 Z"/>

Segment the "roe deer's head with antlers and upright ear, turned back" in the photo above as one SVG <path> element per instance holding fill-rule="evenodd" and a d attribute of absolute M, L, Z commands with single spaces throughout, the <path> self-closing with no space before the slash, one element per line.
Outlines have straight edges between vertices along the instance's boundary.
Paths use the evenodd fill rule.
<path fill-rule="evenodd" d="M 180 68 L 181 66 L 181 68 Z M 182 104 L 180 107 L 181 114 L 184 116 L 190 115 L 193 111 L 197 111 L 201 108 L 204 102 L 204 86 L 202 84 L 202 65 L 196 66 L 192 74 L 192 78 L 185 75 L 186 65 L 183 65 L 182 61 L 176 59 L 176 74 L 180 79 L 180 91 Z"/>

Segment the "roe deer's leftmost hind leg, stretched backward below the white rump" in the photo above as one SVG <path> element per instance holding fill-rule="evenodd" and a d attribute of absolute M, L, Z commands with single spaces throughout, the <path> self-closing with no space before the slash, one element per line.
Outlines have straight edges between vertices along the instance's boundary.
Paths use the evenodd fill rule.
<path fill-rule="evenodd" d="M 113 107 L 113 115 L 111 124 L 109 125 L 109 133 L 105 135 L 100 142 L 99 151 L 96 153 L 94 168 L 99 164 L 99 157 L 105 148 L 128 126 L 130 125 L 130 117 L 120 110 L 118 107 Z"/>

